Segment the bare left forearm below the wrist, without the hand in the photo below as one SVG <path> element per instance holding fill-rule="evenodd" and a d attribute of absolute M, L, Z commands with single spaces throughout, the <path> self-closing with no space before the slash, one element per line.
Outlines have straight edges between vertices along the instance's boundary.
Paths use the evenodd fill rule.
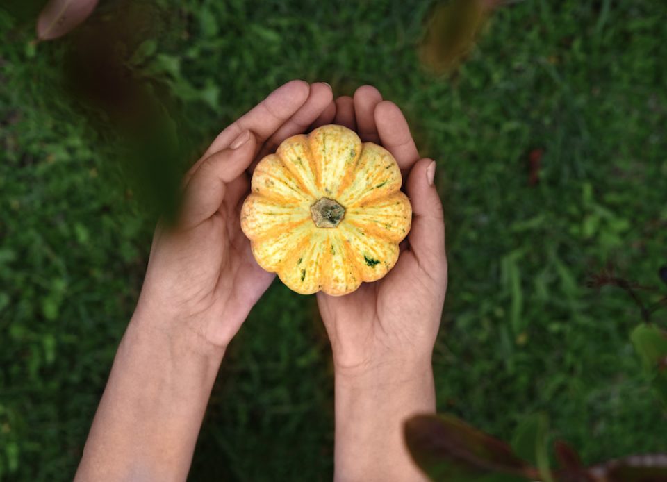
<path fill-rule="evenodd" d="M 133 319 L 116 354 L 77 481 L 186 479 L 222 349 Z"/>

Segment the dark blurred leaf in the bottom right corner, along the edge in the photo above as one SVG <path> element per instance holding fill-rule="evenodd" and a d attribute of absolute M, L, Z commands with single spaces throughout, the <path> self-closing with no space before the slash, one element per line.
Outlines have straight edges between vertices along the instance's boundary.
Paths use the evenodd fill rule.
<path fill-rule="evenodd" d="M 596 482 L 667 481 L 667 454 L 635 455 L 588 469 Z"/>

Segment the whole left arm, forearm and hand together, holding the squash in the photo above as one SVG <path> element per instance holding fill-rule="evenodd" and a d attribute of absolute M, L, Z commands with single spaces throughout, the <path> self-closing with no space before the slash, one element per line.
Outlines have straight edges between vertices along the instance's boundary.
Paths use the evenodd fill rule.
<path fill-rule="evenodd" d="M 240 229 L 246 169 L 263 149 L 330 122 L 326 84 L 292 81 L 217 136 L 160 222 L 76 481 L 186 480 L 225 348 L 271 283 Z M 329 118 L 327 118 L 329 116 Z"/>

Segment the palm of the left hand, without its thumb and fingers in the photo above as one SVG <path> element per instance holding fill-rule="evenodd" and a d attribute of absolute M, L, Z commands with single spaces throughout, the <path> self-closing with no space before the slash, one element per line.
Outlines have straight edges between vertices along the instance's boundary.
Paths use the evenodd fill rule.
<path fill-rule="evenodd" d="M 229 187 L 235 183 L 247 185 L 238 178 Z M 160 290 L 151 299 L 163 313 L 186 323 L 197 315 L 197 326 L 192 328 L 213 342 L 238 331 L 245 318 L 242 313 L 247 314 L 273 279 L 252 259 L 240 229 L 238 196 L 225 199 L 214 215 L 197 226 L 158 228 L 152 251 L 147 279 L 155 282 L 146 286 L 159 283 Z M 165 286 L 167 290 L 162 289 Z M 233 322 L 222 324 L 221 319 Z"/>

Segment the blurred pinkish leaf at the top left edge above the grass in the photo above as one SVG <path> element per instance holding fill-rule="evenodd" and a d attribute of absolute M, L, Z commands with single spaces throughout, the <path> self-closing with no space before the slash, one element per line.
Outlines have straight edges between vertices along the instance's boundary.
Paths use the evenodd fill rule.
<path fill-rule="evenodd" d="M 97 6 L 97 0 L 49 0 L 37 20 L 37 37 L 53 40 L 81 24 Z"/>

